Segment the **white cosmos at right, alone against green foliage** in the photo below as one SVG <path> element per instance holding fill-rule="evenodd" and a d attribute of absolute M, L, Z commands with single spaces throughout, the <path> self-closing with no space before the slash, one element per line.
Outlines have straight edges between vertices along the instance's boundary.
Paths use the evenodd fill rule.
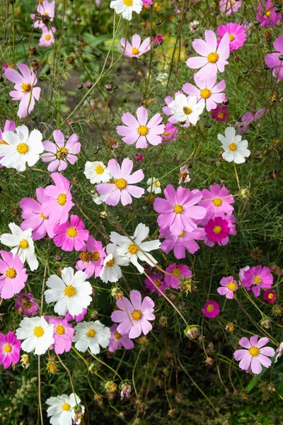
<path fill-rule="evenodd" d="M 227 127 L 225 130 L 225 136 L 218 135 L 224 154 L 222 157 L 227 162 L 235 162 L 236 164 L 243 164 L 245 158 L 250 156 L 250 150 L 248 149 L 248 140 L 242 140 L 242 136 L 236 136 L 236 130 L 233 127 Z"/>

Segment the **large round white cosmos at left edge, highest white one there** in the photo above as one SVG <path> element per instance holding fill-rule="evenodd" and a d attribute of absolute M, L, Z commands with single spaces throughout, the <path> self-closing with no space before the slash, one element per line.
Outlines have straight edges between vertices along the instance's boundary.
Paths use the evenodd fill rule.
<path fill-rule="evenodd" d="M 44 151 L 42 134 L 39 130 L 33 130 L 28 135 L 28 127 L 20 125 L 13 131 L 5 131 L 2 135 L 7 145 L 0 145 L 1 164 L 7 168 L 25 171 L 25 164 L 33 166 L 40 159 Z"/>

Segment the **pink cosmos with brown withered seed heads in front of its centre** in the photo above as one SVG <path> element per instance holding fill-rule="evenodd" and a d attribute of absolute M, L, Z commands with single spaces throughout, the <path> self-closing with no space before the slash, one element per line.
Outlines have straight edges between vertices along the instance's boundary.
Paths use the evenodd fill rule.
<path fill-rule="evenodd" d="M 86 244 L 80 249 L 80 260 L 76 263 L 77 270 L 84 270 L 88 278 L 93 276 L 98 278 L 103 268 L 103 260 L 105 259 L 105 248 L 102 242 L 96 241 L 93 236 L 89 236 Z"/>

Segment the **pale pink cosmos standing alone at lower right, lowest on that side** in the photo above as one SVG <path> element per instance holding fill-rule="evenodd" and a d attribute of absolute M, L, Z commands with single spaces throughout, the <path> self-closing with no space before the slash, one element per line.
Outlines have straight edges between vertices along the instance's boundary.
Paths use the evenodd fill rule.
<path fill-rule="evenodd" d="M 234 358 L 240 361 L 239 368 L 242 370 L 252 370 L 255 375 L 262 371 L 262 366 L 269 368 L 272 361 L 269 357 L 275 356 L 275 351 L 272 347 L 265 347 L 269 343 L 268 338 L 260 338 L 258 335 L 251 336 L 250 339 L 244 336 L 238 341 L 238 344 L 245 349 L 236 350 Z"/>

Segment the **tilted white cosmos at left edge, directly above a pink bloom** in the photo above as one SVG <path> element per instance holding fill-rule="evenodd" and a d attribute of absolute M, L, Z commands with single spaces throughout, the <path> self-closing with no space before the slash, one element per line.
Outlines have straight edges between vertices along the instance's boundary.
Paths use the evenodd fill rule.
<path fill-rule="evenodd" d="M 8 227 L 10 227 L 12 233 L 1 234 L 1 244 L 13 246 L 11 252 L 13 252 L 14 255 L 18 254 L 22 263 L 26 261 L 31 271 L 36 270 L 38 261 L 35 256 L 35 245 L 33 244 L 33 238 L 31 236 L 33 229 L 22 230 L 21 227 L 18 227 L 15 223 L 9 223 Z"/>

